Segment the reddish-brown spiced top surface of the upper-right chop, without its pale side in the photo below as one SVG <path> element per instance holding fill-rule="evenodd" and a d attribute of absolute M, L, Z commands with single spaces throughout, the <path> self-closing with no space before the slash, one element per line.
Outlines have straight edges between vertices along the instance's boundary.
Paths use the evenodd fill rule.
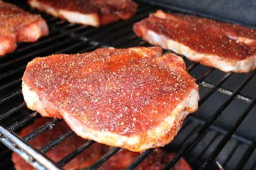
<path fill-rule="evenodd" d="M 198 53 L 218 55 L 225 59 L 243 60 L 256 53 L 256 31 L 241 25 L 217 22 L 195 15 L 152 14 L 134 24 L 134 32 L 142 37 L 142 27 L 188 46 Z M 250 39 L 244 43 L 238 39 Z"/>

